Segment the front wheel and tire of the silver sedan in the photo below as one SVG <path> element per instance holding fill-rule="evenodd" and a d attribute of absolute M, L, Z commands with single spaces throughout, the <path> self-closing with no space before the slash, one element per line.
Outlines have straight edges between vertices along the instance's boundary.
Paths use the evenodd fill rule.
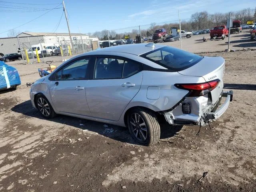
<path fill-rule="evenodd" d="M 42 117 L 44 117 L 46 119 L 52 119 L 56 116 L 56 113 L 54 112 L 50 102 L 43 94 L 38 94 L 36 96 L 35 104 L 36 104 L 36 107 L 38 108 Z M 44 104 L 44 108 L 41 108 L 40 104 L 41 105 Z M 46 104 L 48 104 L 48 106 L 49 106 L 48 108 L 46 108 L 47 107 L 47 106 L 45 106 Z M 45 110 L 45 112 L 44 112 L 44 110 Z"/>

